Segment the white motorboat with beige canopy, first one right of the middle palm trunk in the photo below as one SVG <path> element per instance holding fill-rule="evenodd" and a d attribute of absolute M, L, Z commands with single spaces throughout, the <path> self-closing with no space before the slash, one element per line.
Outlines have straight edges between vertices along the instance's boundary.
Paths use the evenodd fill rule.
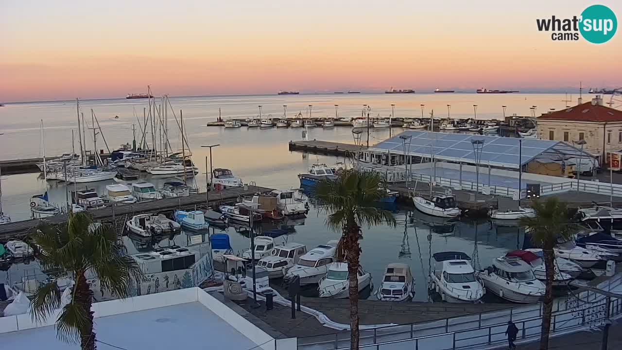
<path fill-rule="evenodd" d="M 376 291 L 382 301 L 405 301 L 415 296 L 415 279 L 405 263 L 390 263 L 384 269 L 383 281 Z"/>

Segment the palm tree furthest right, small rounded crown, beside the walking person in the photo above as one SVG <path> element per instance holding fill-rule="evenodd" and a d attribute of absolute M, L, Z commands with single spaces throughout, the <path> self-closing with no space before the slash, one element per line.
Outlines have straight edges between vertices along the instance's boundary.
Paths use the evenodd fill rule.
<path fill-rule="evenodd" d="M 535 217 L 524 217 L 520 220 L 522 226 L 531 233 L 531 241 L 542 248 L 544 266 L 546 267 L 546 292 L 542 311 L 542 331 L 540 335 L 540 349 L 549 348 L 550 319 L 553 310 L 553 280 L 555 273 L 554 247 L 559 239 L 572 239 L 577 227 L 570 222 L 569 210 L 565 202 L 557 197 L 548 197 L 546 201 L 534 201 Z"/>

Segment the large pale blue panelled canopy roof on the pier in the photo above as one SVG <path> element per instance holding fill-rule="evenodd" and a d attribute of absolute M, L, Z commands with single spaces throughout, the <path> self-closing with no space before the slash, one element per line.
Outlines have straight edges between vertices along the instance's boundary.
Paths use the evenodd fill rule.
<path fill-rule="evenodd" d="M 483 142 L 480 164 L 490 164 L 503 168 L 518 169 L 519 153 L 521 154 L 521 165 L 527 164 L 545 153 L 563 155 L 562 158 L 593 158 L 592 154 L 562 141 L 411 130 L 381 141 L 370 147 L 369 151 L 404 154 L 402 136 L 410 138 L 410 140 L 406 140 L 406 152 L 411 156 L 433 157 L 442 161 L 467 164 L 476 164 L 473 141 Z"/>

